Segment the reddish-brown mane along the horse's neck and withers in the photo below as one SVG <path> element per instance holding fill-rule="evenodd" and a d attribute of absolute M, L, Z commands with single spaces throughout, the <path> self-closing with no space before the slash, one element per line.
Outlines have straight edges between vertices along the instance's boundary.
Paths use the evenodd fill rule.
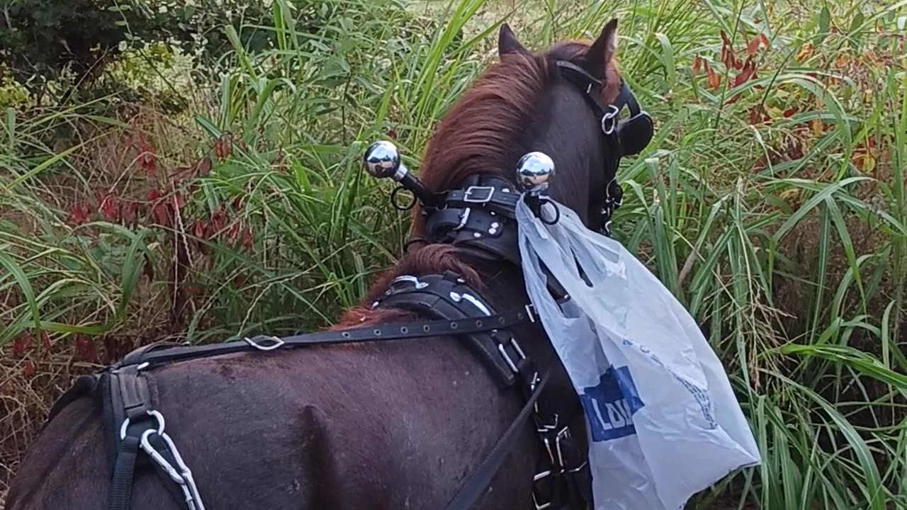
<path fill-rule="evenodd" d="M 474 174 L 502 175 L 514 171 L 522 156 L 520 141 L 527 126 L 537 122 L 545 111 L 540 100 L 556 73 L 552 59 L 581 61 L 589 47 L 585 41 L 565 41 L 552 46 L 546 54 L 502 55 L 438 123 L 421 165 L 419 177 L 424 185 L 431 191 L 442 191 L 457 187 Z M 608 65 L 607 74 L 616 76 L 615 64 Z M 618 86 L 609 80 L 603 99 L 612 101 Z M 414 207 L 412 221 L 413 234 L 418 236 L 424 226 L 418 206 Z M 398 276 L 445 270 L 458 273 L 474 289 L 483 287 L 476 270 L 460 259 L 456 247 L 447 244 L 413 247 L 392 270 L 375 280 L 363 302 L 347 310 L 335 328 L 412 315 L 398 309 L 372 309 L 371 303 Z"/>

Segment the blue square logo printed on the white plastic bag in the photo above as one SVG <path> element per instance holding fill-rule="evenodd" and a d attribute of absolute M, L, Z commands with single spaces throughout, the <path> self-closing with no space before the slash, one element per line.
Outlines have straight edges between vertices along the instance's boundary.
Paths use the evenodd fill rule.
<path fill-rule="evenodd" d="M 582 388 L 580 401 L 589 419 L 593 442 L 636 434 L 633 413 L 644 404 L 629 368 L 609 368 L 601 375 L 598 385 Z"/>

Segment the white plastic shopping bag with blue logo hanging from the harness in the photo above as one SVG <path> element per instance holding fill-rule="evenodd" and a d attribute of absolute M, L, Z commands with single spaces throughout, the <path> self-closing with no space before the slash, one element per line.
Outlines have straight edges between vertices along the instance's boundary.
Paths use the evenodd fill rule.
<path fill-rule="evenodd" d="M 618 241 L 550 202 L 516 208 L 526 287 L 586 412 L 596 510 L 676 510 L 761 462 L 727 374 L 687 310 Z M 540 260 L 571 299 L 546 289 Z M 580 278 L 577 263 L 591 283 Z"/>

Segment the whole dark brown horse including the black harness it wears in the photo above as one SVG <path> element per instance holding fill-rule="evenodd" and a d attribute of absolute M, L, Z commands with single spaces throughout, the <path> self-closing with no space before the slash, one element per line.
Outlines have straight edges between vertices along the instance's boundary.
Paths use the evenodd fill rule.
<path fill-rule="evenodd" d="M 148 346 L 80 378 L 7 508 L 589 506 L 582 409 L 533 321 L 512 211 L 518 163 L 542 152 L 551 198 L 607 229 L 620 157 L 652 135 L 616 31 L 532 53 L 502 25 L 500 62 L 424 153 L 422 244 L 360 306 L 327 331 Z M 398 155 L 381 157 L 402 179 Z"/>

